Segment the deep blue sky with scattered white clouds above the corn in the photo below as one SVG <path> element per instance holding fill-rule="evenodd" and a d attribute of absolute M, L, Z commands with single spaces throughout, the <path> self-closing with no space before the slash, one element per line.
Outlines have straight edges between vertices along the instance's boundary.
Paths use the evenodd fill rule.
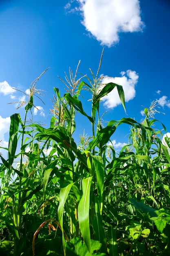
<path fill-rule="evenodd" d="M 49 127 L 53 87 L 63 95 L 64 72 L 69 67 L 91 79 L 96 74 L 102 49 L 99 75 L 103 82 L 123 85 L 126 112 L 116 91 L 101 103 L 106 121 L 132 117 L 141 121 L 142 110 L 158 100 L 160 114 L 155 115 L 170 132 L 170 1 L 168 0 L 1 0 L 0 1 L 0 140 L 7 146 L 10 115 L 24 108 L 9 102 L 24 101 L 23 92 L 46 68 L 37 88 L 46 91 L 35 100 L 39 111 L 33 120 Z M 112 77 L 112 78 L 109 78 Z M 84 91 L 85 92 L 85 91 Z M 84 109 L 90 115 L 91 95 L 85 93 Z M 163 114 L 164 113 L 164 114 Z M 80 117 L 79 117 L 80 118 Z M 90 133 L 84 119 L 77 118 L 75 141 L 79 134 Z M 158 124 L 158 128 L 162 127 Z M 115 148 L 128 140 L 128 126 L 119 126 L 113 136 Z M 163 131 L 163 134 L 165 132 Z M 2 151 L 2 150 L 1 150 Z"/>

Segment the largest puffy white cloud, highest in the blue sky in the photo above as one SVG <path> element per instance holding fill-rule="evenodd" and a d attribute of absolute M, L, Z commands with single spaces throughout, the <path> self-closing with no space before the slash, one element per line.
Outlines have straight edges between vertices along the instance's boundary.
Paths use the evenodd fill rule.
<path fill-rule="evenodd" d="M 142 31 L 139 0 L 77 0 L 82 24 L 102 45 L 119 42 L 119 32 Z M 70 8 L 70 4 L 66 6 Z"/>

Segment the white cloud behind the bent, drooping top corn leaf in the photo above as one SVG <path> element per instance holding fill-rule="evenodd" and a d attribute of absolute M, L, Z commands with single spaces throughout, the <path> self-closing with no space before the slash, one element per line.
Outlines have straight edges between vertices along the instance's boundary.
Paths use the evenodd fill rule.
<path fill-rule="evenodd" d="M 125 76 L 126 75 L 126 76 Z M 135 71 L 127 70 L 126 72 L 121 72 L 120 77 L 105 77 L 102 79 L 102 83 L 117 83 L 123 86 L 125 101 L 128 102 L 135 97 L 135 85 L 138 81 L 138 74 Z M 117 92 L 117 88 L 114 88 L 110 93 L 102 98 L 104 102 L 104 106 L 107 108 L 115 108 L 116 106 L 121 104 L 119 99 L 119 94 Z"/>

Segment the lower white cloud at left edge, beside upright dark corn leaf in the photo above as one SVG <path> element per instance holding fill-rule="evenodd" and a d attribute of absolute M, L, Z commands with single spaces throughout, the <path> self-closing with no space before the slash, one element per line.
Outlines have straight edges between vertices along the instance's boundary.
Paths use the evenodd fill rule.
<path fill-rule="evenodd" d="M 2 118 L 0 116 L 0 146 L 4 148 L 8 148 L 8 141 L 5 141 L 5 133 L 9 132 L 11 119 L 10 117 Z M 0 153 L 6 159 L 7 157 L 7 150 L 0 148 Z"/>

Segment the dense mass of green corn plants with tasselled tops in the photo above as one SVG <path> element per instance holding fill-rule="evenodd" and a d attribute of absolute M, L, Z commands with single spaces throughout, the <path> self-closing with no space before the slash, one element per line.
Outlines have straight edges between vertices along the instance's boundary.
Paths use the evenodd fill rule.
<path fill-rule="evenodd" d="M 0 155 L 1 254 L 170 254 L 170 143 L 153 128 L 156 103 L 144 109 L 142 123 L 123 117 L 104 127 L 101 98 L 117 88 L 124 109 L 125 99 L 121 85 L 103 85 L 98 73 L 76 80 L 70 70 L 64 96 L 54 88 L 49 128 L 26 125 L 40 77 L 30 86 L 24 121 L 11 116 L 8 159 Z M 83 89 L 92 95 L 91 114 L 78 99 Z M 92 128 L 79 145 L 77 112 Z M 116 154 L 110 141 L 121 124 L 130 136 Z"/>

